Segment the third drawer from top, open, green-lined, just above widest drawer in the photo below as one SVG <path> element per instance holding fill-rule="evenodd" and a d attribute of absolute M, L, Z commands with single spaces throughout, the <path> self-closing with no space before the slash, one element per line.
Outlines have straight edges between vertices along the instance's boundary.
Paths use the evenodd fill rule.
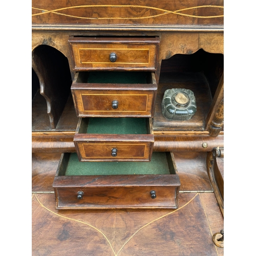
<path fill-rule="evenodd" d="M 79 118 L 74 144 L 79 161 L 150 161 L 151 118 Z"/>

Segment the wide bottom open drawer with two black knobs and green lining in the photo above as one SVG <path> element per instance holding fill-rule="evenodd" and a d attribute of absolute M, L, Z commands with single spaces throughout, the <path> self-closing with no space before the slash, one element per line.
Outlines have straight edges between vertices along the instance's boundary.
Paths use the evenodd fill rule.
<path fill-rule="evenodd" d="M 56 209 L 178 208 L 180 179 L 170 152 L 147 163 L 84 163 L 63 153 L 53 188 Z"/>

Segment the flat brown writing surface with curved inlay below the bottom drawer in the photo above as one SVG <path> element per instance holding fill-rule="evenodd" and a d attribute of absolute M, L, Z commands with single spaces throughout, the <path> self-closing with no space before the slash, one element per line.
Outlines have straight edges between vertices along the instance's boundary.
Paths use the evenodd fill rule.
<path fill-rule="evenodd" d="M 180 195 L 175 210 L 56 210 L 53 194 L 32 195 L 32 255 L 209 255 L 223 248 L 214 193 Z"/>

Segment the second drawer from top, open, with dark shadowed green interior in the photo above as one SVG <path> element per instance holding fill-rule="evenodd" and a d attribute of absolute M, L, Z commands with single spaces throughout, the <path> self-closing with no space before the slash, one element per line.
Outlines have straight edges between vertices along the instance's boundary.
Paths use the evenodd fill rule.
<path fill-rule="evenodd" d="M 78 117 L 152 117 L 154 72 L 77 72 L 71 92 Z"/>

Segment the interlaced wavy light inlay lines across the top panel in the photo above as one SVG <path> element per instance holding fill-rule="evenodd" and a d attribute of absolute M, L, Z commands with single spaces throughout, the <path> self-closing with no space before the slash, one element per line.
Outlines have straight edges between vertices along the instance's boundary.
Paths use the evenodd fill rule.
<path fill-rule="evenodd" d="M 63 10 L 68 10 L 68 9 L 75 9 L 75 8 L 97 8 L 97 7 L 114 7 L 114 8 L 130 8 L 130 7 L 137 7 L 137 8 L 144 8 L 144 9 L 153 9 L 156 11 L 161 11 L 162 13 L 160 14 L 155 14 L 155 15 L 149 15 L 149 16 L 140 16 L 140 17 L 83 17 L 83 16 L 74 16 L 74 15 L 69 15 L 65 13 L 61 13 L 59 11 Z M 182 15 L 182 16 L 188 16 L 188 17 L 194 17 L 194 18 L 218 18 L 218 17 L 224 17 L 224 15 L 214 15 L 214 16 L 199 16 L 199 15 L 191 15 L 191 14 L 186 14 L 186 13 L 181 13 L 182 11 L 186 10 L 191 10 L 191 9 L 198 9 L 198 8 L 222 8 L 224 9 L 223 6 L 215 6 L 215 5 L 203 5 L 203 6 L 195 6 L 195 7 L 189 7 L 189 8 L 184 8 L 176 11 L 169 11 L 165 9 L 160 9 L 156 7 L 150 7 L 150 6 L 140 6 L 140 5 L 80 5 L 80 6 L 71 6 L 71 7 L 65 7 L 65 8 L 59 8 L 55 10 L 44 10 L 44 9 L 39 9 L 39 8 L 34 8 L 34 10 L 41 11 L 40 13 L 35 13 L 32 14 L 32 16 L 38 16 L 38 15 L 44 15 L 47 13 L 55 13 L 58 15 L 64 15 L 64 16 L 69 16 L 73 18 L 81 18 L 81 19 L 144 19 L 144 18 L 153 18 L 161 15 L 166 15 L 166 14 L 176 14 L 176 15 Z"/>

